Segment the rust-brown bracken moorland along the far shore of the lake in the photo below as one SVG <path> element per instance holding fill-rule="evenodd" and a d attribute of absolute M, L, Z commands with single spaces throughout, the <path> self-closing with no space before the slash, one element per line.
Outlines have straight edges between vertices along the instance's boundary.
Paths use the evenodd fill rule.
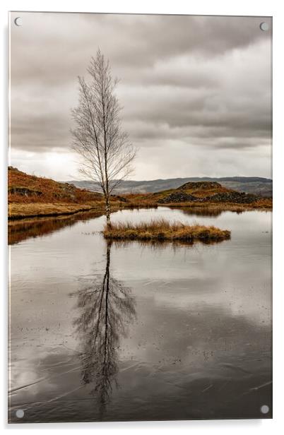
<path fill-rule="evenodd" d="M 215 181 L 190 182 L 177 189 L 158 193 L 129 193 L 112 196 L 112 211 L 123 208 L 156 208 L 158 206 L 206 210 L 271 210 L 272 198 L 258 197 L 227 189 Z M 104 213 L 101 193 L 78 189 L 73 184 L 60 183 L 45 177 L 25 174 L 8 167 L 8 218 L 71 215 L 95 210 Z"/>

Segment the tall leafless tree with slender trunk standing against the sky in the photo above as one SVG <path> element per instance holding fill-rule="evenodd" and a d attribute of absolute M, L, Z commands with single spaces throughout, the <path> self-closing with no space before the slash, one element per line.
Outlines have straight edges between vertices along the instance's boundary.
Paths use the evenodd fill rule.
<path fill-rule="evenodd" d="M 73 149 L 81 156 L 80 172 L 97 182 L 105 198 L 107 227 L 110 222 L 110 195 L 131 173 L 136 149 L 122 129 L 122 107 L 114 94 L 117 79 L 100 49 L 87 68 L 90 81 L 78 77 L 79 102 L 72 109 L 75 128 Z"/>

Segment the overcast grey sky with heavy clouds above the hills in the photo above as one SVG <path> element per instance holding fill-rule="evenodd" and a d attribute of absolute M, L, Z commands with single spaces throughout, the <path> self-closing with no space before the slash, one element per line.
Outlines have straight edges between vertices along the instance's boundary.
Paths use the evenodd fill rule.
<path fill-rule="evenodd" d="M 138 147 L 131 179 L 271 177 L 263 21 L 271 28 L 270 18 L 12 13 L 11 165 L 80 179 L 70 110 L 100 47 Z"/>

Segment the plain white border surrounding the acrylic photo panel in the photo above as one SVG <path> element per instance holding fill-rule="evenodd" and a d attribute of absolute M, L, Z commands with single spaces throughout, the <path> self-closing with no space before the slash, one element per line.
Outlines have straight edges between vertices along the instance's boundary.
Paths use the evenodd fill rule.
<path fill-rule="evenodd" d="M 198 0 L 198 1 L 105 1 L 104 3 L 87 0 L 69 1 L 6 1 L 0 4 L 1 20 L 1 217 L 6 214 L 6 164 L 7 164 L 7 70 L 8 70 L 8 11 L 73 11 L 73 12 L 117 12 L 117 13 L 189 13 L 199 15 L 240 15 L 240 16 L 273 16 L 273 419 L 271 420 L 215 420 L 198 422 L 137 422 L 137 423 L 72 423 L 72 424 L 6 424 L 6 356 L 7 356 L 7 261 L 6 261 L 6 220 L 1 219 L 1 277 L 2 278 L 2 300 L 1 300 L 1 325 L 3 335 L 1 345 L 1 426 L 4 430 L 13 433 L 16 430 L 35 429 L 47 431 L 72 431 L 87 429 L 110 433 L 115 431 L 122 434 L 125 431 L 144 433 L 145 431 L 160 431 L 162 434 L 170 434 L 172 431 L 188 433 L 198 431 L 204 434 L 210 431 L 211 434 L 238 434 L 256 433 L 267 435 L 268 432 L 275 433 L 284 427 L 282 421 L 283 413 L 283 316 L 284 316 L 284 280 L 283 280 L 283 189 L 284 189 L 284 152 L 283 152 L 283 89 L 284 89 L 284 68 L 283 68 L 283 2 L 278 0 Z M 282 54 L 282 56 L 281 56 Z M 5 355 L 5 357 L 3 357 Z M 282 430 L 283 432 L 283 430 Z"/>

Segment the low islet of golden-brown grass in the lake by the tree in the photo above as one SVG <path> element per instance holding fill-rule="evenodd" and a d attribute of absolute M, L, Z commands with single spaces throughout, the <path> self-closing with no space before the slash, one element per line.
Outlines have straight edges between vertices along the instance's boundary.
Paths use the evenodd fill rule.
<path fill-rule="evenodd" d="M 105 226 L 102 234 L 106 239 L 112 240 L 170 240 L 183 242 L 210 242 L 230 239 L 230 231 L 204 225 L 184 225 L 182 222 L 168 222 L 164 219 L 151 220 L 150 222 L 113 223 L 109 229 Z"/>

